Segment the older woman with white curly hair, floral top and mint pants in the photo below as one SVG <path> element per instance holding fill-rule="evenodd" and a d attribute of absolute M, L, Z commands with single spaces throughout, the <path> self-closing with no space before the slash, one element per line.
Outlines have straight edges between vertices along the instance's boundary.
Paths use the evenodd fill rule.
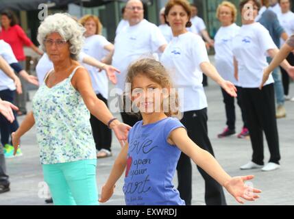
<path fill-rule="evenodd" d="M 114 131 L 121 145 L 130 130 L 97 98 L 87 70 L 76 61 L 83 34 L 84 27 L 68 14 L 41 23 L 38 41 L 54 68 L 34 96 L 33 111 L 12 134 L 16 151 L 21 136 L 36 123 L 44 178 L 56 205 L 98 205 L 90 113 Z"/>

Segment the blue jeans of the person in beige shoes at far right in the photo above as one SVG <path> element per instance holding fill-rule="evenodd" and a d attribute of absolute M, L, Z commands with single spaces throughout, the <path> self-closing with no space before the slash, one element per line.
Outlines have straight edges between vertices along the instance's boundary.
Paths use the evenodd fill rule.
<path fill-rule="evenodd" d="M 271 60 L 272 60 L 271 57 L 267 57 L 267 62 L 270 63 Z M 277 105 L 284 105 L 285 97 L 284 97 L 284 88 L 282 84 L 280 69 L 275 68 L 275 70 L 273 70 L 272 75 L 273 75 L 273 81 L 275 81 L 274 83 L 275 101 Z"/>

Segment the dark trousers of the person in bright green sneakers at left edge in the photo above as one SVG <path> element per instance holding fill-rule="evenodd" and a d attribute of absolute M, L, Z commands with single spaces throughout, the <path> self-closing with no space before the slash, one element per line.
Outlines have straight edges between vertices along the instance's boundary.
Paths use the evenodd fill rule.
<path fill-rule="evenodd" d="M 3 101 L 14 103 L 14 95 L 15 95 L 14 90 L 0 91 L 0 98 Z M 10 144 L 11 133 L 16 131 L 16 129 L 19 128 L 19 123 L 16 120 L 16 112 L 13 112 L 13 113 L 15 118 L 13 123 L 10 123 L 3 115 L 0 114 L 0 133 L 1 133 L 1 143 L 3 144 L 3 146 L 5 146 L 5 144 Z"/>

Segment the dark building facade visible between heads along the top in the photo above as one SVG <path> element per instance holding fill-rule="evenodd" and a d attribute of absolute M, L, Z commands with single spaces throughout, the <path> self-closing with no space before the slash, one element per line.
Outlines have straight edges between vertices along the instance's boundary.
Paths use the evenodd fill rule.
<path fill-rule="evenodd" d="M 67 7 L 54 9 L 49 8 L 49 14 L 53 14 L 56 12 L 69 12 L 69 14 L 72 14 L 76 18 L 80 18 L 84 14 L 94 14 L 96 16 L 99 16 L 101 23 L 103 24 L 103 36 L 106 36 L 106 38 L 108 38 L 110 42 L 113 42 L 117 24 L 121 20 L 121 9 L 123 8 L 123 6 L 125 6 L 124 1 L 114 0 L 110 1 L 110 3 L 106 3 L 105 5 L 92 8 L 81 8 L 79 5 L 69 3 Z M 164 7 L 167 1 L 168 0 L 144 0 L 145 18 L 151 23 L 159 25 L 159 11 L 162 7 Z M 199 11 L 198 16 L 204 19 L 210 37 L 214 38 L 220 25 L 219 21 L 216 18 L 216 10 L 219 3 L 221 3 L 223 0 L 188 1 L 197 5 Z M 240 0 L 228 1 L 234 3 L 234 5 L 236 5 L 236 8 L 238 8 Z M 294 3 L 292 2 L 292 6 L 293 5 Z M 23 29 L 25 29 L 27 35 L 30 36 L 35 44 L 38 44 L 38 42 L 36 41 L 36 35 L 38 26 L 40 25 L 40 21 L 38 20 L 38 12 L 38 8 L 34 10 L 16 12 L 16 14 L 20 18 L 21 26 L 23 27 Z M 241 25 L 240 14 L 238 14 L 237 24 Z"/>

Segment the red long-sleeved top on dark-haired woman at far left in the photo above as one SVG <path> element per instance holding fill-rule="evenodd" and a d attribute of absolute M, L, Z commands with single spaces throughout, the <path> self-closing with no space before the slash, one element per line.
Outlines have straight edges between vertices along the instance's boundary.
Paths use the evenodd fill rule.
<path fill-rule="evenodd" d="M 25 60 L 25 52 L 23 51 L 23 45 L 30 47 L 32 46 L 33 42 L 29 40 L 25 31 L 19 26 L 14 25 L 9 27 L 8 29 L 4 29 L 2 27 L 0 31 L 0 40 L 4 40 L 10 47 L 18 61 Z"/>

